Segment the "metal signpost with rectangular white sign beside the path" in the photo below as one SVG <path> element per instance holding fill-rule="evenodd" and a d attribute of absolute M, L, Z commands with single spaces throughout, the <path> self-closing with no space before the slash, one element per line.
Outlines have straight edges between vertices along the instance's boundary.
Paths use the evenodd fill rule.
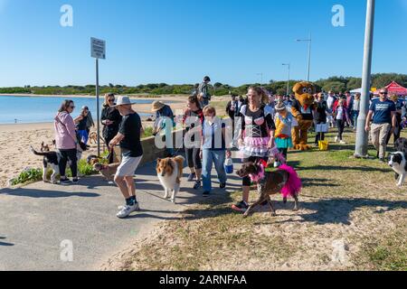
<path fill-rule="evenodd" d="M 100 157 L 99 60 L 106 59 L 106 42 L 90 38 L 90 51 L 91 57 L 96 59 L 96 111 L 98 119 L 98 156 Z"/>

